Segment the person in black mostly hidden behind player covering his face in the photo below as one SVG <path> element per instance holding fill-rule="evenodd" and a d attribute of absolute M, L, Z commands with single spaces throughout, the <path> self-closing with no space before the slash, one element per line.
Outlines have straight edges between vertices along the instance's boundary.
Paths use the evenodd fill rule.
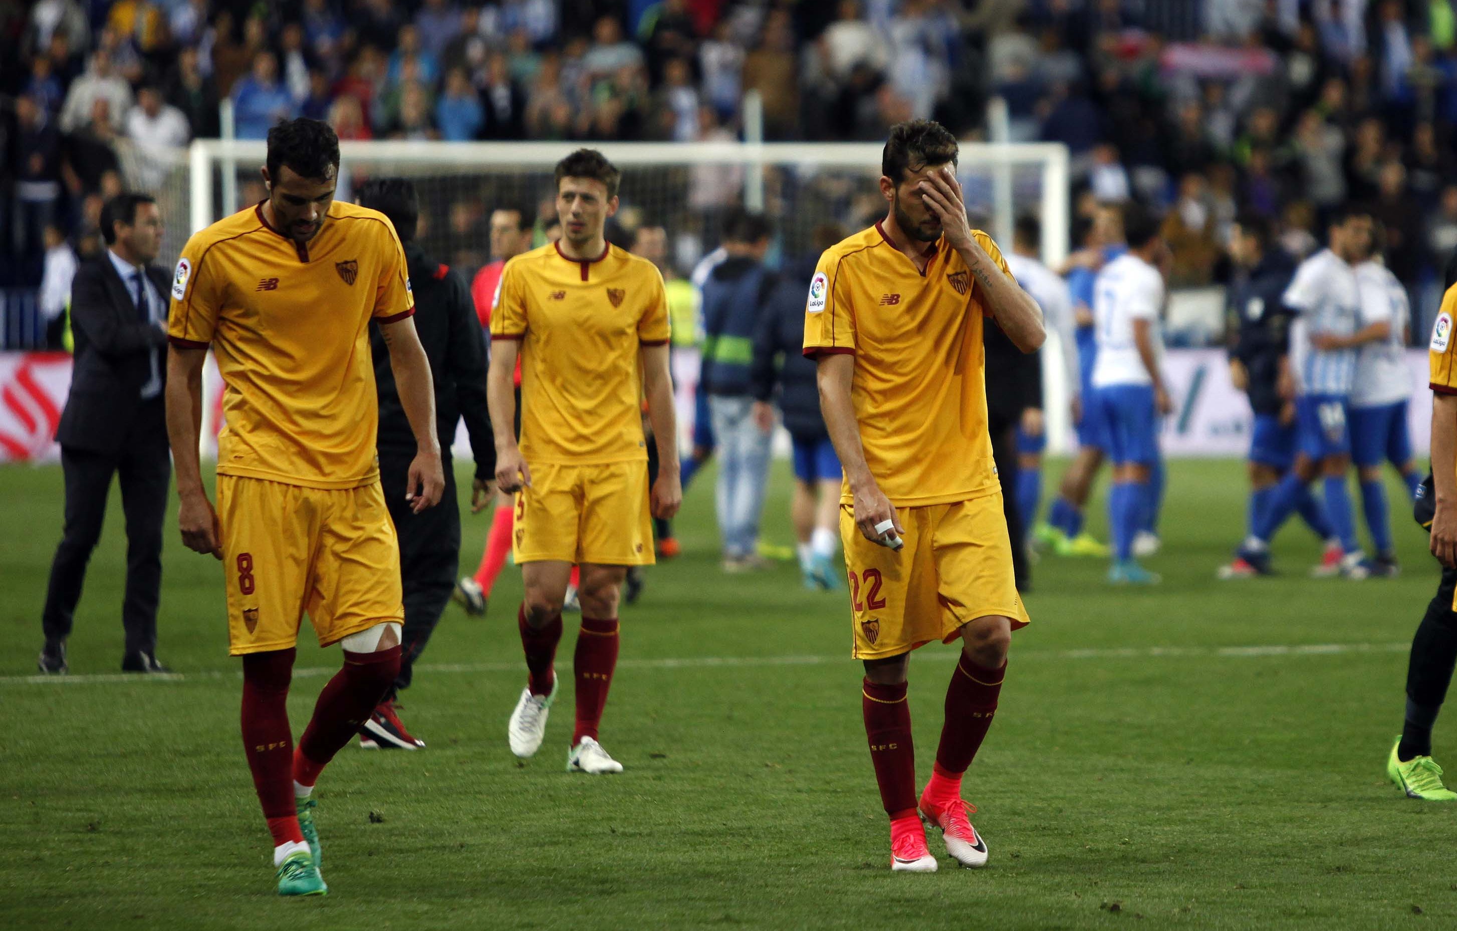
<path fill-rule="evenodd" d="M 1027 408 L 1042 409 L 1042 353 L 1023 353 L 1000 326 L 982 331 L 986 347 L 986 431 L 992 439 L 992 462 L 1002 485 L 1016 490 L 1017 424 Z M 1032 587 L 1027 565 L 1026 522 L 1017 511 L 1017 495 L 1002 495 L 1007 535 L 1011 538 L 1013 573 L 1017 590 Z"/>

